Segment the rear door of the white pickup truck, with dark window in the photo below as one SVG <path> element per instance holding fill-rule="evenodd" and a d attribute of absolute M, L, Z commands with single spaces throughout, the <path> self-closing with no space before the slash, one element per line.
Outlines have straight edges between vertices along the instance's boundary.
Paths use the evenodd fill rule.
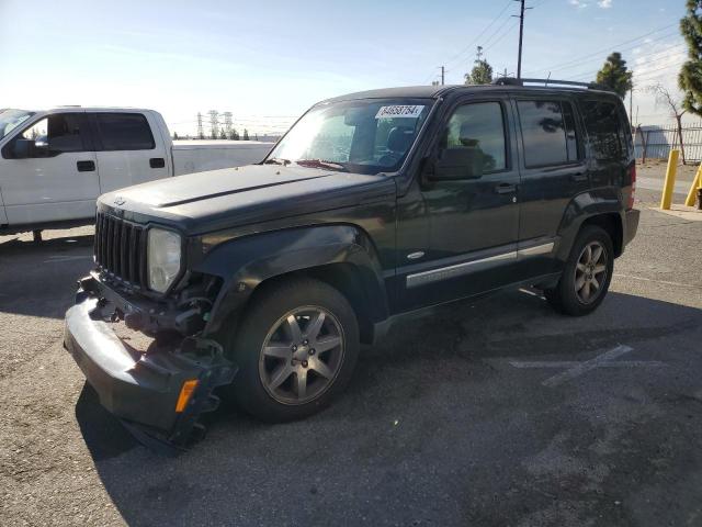
<path fill-rule="evenodd" d="M 170 152 L 149 113 L 88 115 L 95 135 L 102 193 L 170 175 Z"/>

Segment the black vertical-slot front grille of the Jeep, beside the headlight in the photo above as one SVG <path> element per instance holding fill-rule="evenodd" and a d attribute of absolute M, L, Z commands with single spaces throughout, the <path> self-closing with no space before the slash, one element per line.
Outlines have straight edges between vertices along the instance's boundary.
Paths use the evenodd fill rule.
<path fill-rule="evenodd" d="M 146 229 L 143 226 L 98 213 L 94 251 L 101 270 L 132 285 L 146 284 Z"/>

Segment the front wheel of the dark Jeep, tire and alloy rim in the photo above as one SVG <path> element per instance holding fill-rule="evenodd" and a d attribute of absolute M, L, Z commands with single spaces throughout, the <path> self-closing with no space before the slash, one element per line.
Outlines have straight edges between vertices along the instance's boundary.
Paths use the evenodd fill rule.
<path fill-rule="evenodd" d="M 325 282 L 302 278 L 263 287 L 227 350 L 239 371 L 225 395 L 264 422 L 301 419 L 348 385 L 359 324 L 346 296 Z"/>

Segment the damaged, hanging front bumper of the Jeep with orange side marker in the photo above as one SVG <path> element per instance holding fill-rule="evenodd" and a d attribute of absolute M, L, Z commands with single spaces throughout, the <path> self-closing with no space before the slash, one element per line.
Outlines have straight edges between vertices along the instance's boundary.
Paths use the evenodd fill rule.
<path fill-rule="evenodd" d="M 115 319 L 115 304 L 121 304 L 121 313 L 125 306 L 132 313 L 139 307 L 124 299 L 120 302 L 114 291 L 107 300 L 101 289 L 94 277 L 81 281 L 77 304 L 66 313 L 64 347 L 101 404 L 137 439 L 150 447 L 185 448 L 202 436 L 197 417 L 217 407 L 213 390 L 229 384 L 236 367 L 216 341 L 200 337 L 166 346 L 155 341 L 146 351 L 135 349 L 109 321 Z"/>

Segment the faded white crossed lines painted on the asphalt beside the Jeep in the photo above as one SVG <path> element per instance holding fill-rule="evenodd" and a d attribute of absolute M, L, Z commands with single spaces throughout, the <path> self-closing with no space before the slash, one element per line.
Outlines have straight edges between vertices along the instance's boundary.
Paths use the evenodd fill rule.
<path fill-rule="evenodd" d="M 554 388 L 564 382 L 570 381 L 582 373 L 596 368 L 658 368 L 666 366 L 659 360 L 614 360 L 624 354 L 629 354 L 633 348 L 619 345 L 614 349 L 610 349 L 593 359 L 586 361 L 564 360 L 564 361 L 521 361 L 512 360 L 510 366 L 514 368 L 566 368 L 566 371 L 550 377 L 542 382 L 544 386 Z"/>

